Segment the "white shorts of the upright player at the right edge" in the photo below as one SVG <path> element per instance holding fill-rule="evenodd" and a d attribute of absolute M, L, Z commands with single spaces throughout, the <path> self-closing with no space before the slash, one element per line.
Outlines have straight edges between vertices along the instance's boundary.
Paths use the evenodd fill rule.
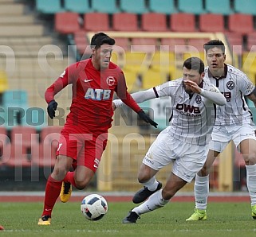
<path fill-rule="evenodd" d="M 243 124 L 242 126 L 214 126 L 209 148 L 221 153 L 231 140 L 233 140 L 234 145 L 237 147 L 240 142 L 246 139 L 256 140 L 255 127 L 250 124 Z"/>

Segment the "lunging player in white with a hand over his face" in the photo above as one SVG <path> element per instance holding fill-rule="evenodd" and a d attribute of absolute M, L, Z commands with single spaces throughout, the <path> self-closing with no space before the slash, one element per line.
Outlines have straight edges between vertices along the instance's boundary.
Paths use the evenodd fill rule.
<path fill-rule="evenodd" d="M 183 78 L 132 94 L 137 103 L 170 96 L 172 114 L 170 126 L 158 135 L 144 157 L 138 175 L 144 188 L 136 192 L 133 202 L 140 203 L 155 193 L 133 208 L 123 223 L 136 223 L 141 214 L 163 207 L 203 167 L 215 122 L 215 104 L 226 103 L 219 89 L 209 80 L 203 80 L 203 71 L 203 61 L 191 57 L 183 63 Z M 120 101 L 114 103 L 120 106 Z M 155 175 L 171 161 L 171 176 L 162 190 Z"/>

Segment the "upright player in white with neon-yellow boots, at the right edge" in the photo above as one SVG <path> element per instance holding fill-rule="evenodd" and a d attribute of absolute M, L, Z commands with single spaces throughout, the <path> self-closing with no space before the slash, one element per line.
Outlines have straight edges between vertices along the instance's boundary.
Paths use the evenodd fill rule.
<path fill-rule="evenodd" d="M 203 169 L 195 177 L 195 212 L 187 219 L 207 220 L 207 196 L 209 194 L 209 170 L 219 153 L 233 140 L 246 163 L 246 182 L 250 193 L 251 215 L 256 219 L 256 137 L 252 114 L 245 96 L 256 102 L 256 89 L 248 77 L 225 64 L 225 46 L 212 40 L 204 45 L 207 55 L 205 76 L 219 88 L 226 98 L 226 105 L 217 107 L 217 117 L 209 153 Z"/>

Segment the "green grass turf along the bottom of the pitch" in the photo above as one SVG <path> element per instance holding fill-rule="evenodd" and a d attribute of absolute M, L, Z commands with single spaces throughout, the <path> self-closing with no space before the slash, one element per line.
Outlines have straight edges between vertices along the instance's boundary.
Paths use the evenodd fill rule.
<path fill-rule="evenodd" d="M 81 215 L 79 203 L 57 203 L 50 226 L 37 226 L 41 203 L 1 203 L 2 236 L 255 236 L 249 203 L 210 203 L 207 220 L 187 223 L 194 203 L 174 202 L 141 216 L 136 224 L 122 224 L 132 203 L 108 203 L 102 220 L 89 221 Z"/>

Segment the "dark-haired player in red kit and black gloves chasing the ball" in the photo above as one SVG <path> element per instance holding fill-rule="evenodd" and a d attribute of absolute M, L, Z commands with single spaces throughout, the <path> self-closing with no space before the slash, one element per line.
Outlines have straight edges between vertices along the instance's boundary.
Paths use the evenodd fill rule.
<path fill-rule="evenodd" d="M 66 202 L 72 186 L 83 189 L 89 185 L 100 163 L 112 122 L 114 92 L 152 126 L 152 121 L 128 94 L 124 73 L 110 62 L 115 40 L 104 33 L 96 33 L 91 41 L 92 56 L 70 65 L 45 91 L 50 118 L 55 116 L 57 102 L 54 95 L 68 84 L 73 86 L 73 99 L 57 148 L 53 173 L 45 187 L 45 204 L 38 225 L 49 225 L 53 206 L 61 192 Z M 69 169 L 73 166 L 73 172 Z M 62 186 L 62 188 L 61 188 Z"/>

